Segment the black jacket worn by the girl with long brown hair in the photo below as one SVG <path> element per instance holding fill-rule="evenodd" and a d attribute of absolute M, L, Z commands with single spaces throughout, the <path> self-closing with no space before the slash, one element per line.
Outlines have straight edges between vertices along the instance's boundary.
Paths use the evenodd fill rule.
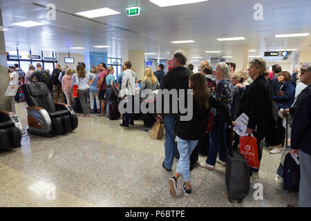
<path fill-rule="evenodd" d="M 190 121 L 178 120 L 174 126 L 174 132 L 182 140 L 202 140 L 205 137 L 205 131 L 209 122 L 209 112 L 211 108 L 216 108 L 225 119 L 228 125 L 232 125 L 232 119 L 229 110 L 223 102 L 220 102 L 214 97 L 209 98 L 209 108 L 205 108 L 204 104 L 198 104 L 196 99 L 193 99 L 193 117 Z"/>

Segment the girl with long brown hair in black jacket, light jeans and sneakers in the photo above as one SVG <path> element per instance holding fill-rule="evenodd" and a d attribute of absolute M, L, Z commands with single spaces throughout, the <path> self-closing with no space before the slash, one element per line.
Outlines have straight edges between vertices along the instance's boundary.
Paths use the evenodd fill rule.
<path fill-rule="evenodd" d="M 205 135 L 207 123 L 209 121 L 210 108 L 217 108 L 225 117 L 227 124 L 231 125 L 231 117 L 228 108 L 220 101 L 211 97 L 205 87 L 205 77 L 201 73 L 193 74 L 189 77 L 189 88 L 193 90 L 193 117 L 189 121 L 178 120 L 174 127 L 177 135 L 178 151 L 180 159 L 176 168 L 176 173 L 169 179 L 170 193 L 176 198 L 177 180 L 182 174 L 185 184 L 182 189 L 186 195 L 191 194 L 190 179 L 190 155 L 191 152 Z M 186 113 L 187 114 L 187 113 Z"/>

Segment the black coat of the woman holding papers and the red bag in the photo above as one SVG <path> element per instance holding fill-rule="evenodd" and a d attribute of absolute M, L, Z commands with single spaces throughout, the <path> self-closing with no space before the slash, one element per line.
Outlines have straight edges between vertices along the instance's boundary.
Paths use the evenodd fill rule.
<path fill-rule="evenodd" d="M 263 139 L 270 132 L 272 122 L 270 85 L 263 76 L 257 77 L 247 87 L 241 100 L 240 114 L 245 113 L 249 117 L 248 128 L 256 129 L 254 137 Z M 238 116 L 239 116 L 238 115 Z M 268 122 L 270 122 L 268 124 Z"/>

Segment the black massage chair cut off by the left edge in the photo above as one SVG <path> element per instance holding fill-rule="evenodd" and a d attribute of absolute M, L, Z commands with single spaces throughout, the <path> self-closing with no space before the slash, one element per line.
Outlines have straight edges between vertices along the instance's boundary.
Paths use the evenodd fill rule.
<path fill-rule="evenodd" d="M 21 146 L 22 127 L 15 113 L 0 111 L 0 151 Z"/>

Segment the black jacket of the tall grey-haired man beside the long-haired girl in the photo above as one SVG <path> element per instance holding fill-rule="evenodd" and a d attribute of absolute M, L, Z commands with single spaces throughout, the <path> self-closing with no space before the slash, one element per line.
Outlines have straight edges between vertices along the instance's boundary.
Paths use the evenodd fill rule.
<path fill-rule="evenodd" d="M 187 102 L 187 89 L 189 89 L 189 77 L 193 74 L 193 72 L 189 68 L 185 68 L 184 66 L 177 66 L 176 68 L 171 68 L 165 75 L 162 77 L 162 81 L 160 84 L 160 89 L 164 90 L 171 90 L 176 89 L 178 91 L 178 98 L 179 98 L 179 90 L 185 90 L 185 102 Z M 164 96 L 162 96 L 162 113 L 164 108 Z M 178 117 L 177 113 L 172 113 L 172 104 L 173 101 L 172 97 L 169 98 L 169 114 L 164 113 L 166 116 L 171 117 Z M 179 105 L 178 105 L 178 113 L 179 113 Z"/>

